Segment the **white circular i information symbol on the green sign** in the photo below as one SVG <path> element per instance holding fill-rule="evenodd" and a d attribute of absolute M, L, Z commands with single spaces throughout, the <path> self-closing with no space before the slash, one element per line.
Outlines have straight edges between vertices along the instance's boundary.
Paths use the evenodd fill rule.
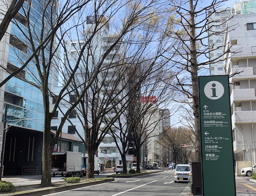
<path fill-rule="evenodd" d="M 218 81 L 208 82 L 204 86 L 204 94 L 212 100 L 220 99 L 224 94 L 224 86 Z"/>

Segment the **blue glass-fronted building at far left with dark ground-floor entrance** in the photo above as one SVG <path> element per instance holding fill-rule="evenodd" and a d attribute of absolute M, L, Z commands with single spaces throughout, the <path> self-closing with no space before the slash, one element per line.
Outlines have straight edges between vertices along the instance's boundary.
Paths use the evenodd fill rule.
<path fill-rule="evenodd" d="M 43 11 L 41 5 L 43 2 L 32 0 L 31 5 L 28 3 L 24 1 L 22 8 L 10 22 L 6 34 L 0 42 L 2 46 L 0 61 L 5 67 L 5 70 L 0 70 L 0 82 L 8 77 L 9 73 L 20 68 L 32 54 L 28 40 L 28 25 L 31 29 L 33 28 L 31 32 L 34 38 L 41 33 Z M 0 6 L 1 10 L 7 11 L 8 5 L 2 2 Z M 30 8 L 29 13 L 27 12 L 28 8 Z M 29 21 L 26 15 L 29 15 Z M 38 45 L 38 43 L 34 44 Z M 52 89 L 53 86 L 51 81 L 52 76 L 50 75 L 49 89 Z M 2 137 L 5 105 L 8 104 L 4 175 L 41 174 L 44 105 L 41 91 L 31 83 L 40 86 L 39 74 L 33 59 L 25 69 L 9 79 L 0 89 L 0 117 L 2 118 L 0 135 Z"/>

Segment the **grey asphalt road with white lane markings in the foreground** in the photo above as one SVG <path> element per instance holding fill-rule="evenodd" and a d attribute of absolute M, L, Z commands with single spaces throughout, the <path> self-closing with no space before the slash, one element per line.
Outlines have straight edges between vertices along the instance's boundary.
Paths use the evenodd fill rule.
<path fill-rule="evenodd" d="M 99 175 L 100 176 L 100 175 Z M 173 171 L 136 178 L 116 178 L 114 182 L 54 193 L 55 196 L 179 196 L 187 183 L 174 183 Z M 52 195 L 52 194 L 49 194 Z"/>

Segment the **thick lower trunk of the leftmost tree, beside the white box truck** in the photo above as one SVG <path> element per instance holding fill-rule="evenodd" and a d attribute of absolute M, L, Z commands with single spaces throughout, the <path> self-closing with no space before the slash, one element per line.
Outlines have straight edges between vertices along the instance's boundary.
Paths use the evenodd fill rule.
<path fill-rule="evenodd" d="M 41 187 L 52 186 L 51 182 L 51 160 L 53 148 L 50 146 L 50 123 L 49 119 L 44 120 L 44 137 L 43 137 L 43 165 Z"/>

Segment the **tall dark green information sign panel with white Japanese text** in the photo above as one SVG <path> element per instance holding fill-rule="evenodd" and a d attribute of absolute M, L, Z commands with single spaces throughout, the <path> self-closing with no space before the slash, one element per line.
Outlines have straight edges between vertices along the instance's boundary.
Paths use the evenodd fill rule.
<path fill-rule="evenodd" d="M 198 82 L 203 195 L 235 196 L 229 77 L 201 76 Z"/>

